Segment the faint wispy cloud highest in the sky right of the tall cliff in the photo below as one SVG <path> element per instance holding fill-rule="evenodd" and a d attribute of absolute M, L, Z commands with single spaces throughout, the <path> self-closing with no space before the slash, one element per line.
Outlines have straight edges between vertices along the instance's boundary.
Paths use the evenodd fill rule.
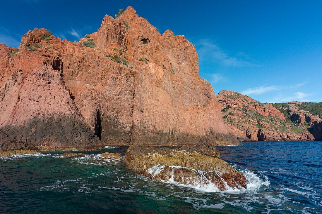
<path fill-rule="evenodd" d="M 244 53 L 238 53 L 236 57 L 230 56 L 226 51 L 219 48 L 218 44 L 208 39 L 197 43 L 197 50 L 201 60 L 212 60 L 215 63 L 226 66 L 258 66 L 259 63 Z"/>

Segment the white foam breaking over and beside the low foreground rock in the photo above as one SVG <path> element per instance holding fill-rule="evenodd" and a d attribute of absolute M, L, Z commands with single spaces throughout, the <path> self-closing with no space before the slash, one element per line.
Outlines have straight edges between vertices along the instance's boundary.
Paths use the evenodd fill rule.
<path fill-rule="evenodd" d="M 157 174 L 161 173 L 165 167 L 166 166 L 163 166 L 163 165 L 153 166 L 148 169 L 148 173 L 153 178 Z M 185 167 L 181 167 L 181 166 L 170 166 L 170 167 L 171 168 L 185 168 Z M 189 168 L 187 168 L 187 169 L 189 169 Z M 200 192 L 228 192 L 228 193 L 255 192 L 255 191 L 258 191 L 260 189 L 260 187 L 263 185 L 265 185 L 265 186 L 270 185 L 270 182 L 266 176 L 263 176 L 264 179 L 261 179 L 257 174 L 255 174 L 253 172 L 242 171 L 241 173 L 244 174 L 244 176 L 247 179 L 246 188 L 231 187 L 223 180 L 226 190 L 220 191 L 219 188 L 215 184 L 213 184 L 204 175 L 205 171 L 196 170 L 196 169 L 189 169 L 189 170 L 194 172 L 199 177 L 199 179 L 193 180 L 192 184 L 182 184 L 182 183 L 175 182 L 174 181 L 174 169 L 172 169 L 170 179 L 168 181 L 161 181 L 161 182 L 172 183 L 172 184 L 176 184 L 176 185 L 183 186 L 183 187 L 193 188 L 193 189 L 200 191 Z"/>

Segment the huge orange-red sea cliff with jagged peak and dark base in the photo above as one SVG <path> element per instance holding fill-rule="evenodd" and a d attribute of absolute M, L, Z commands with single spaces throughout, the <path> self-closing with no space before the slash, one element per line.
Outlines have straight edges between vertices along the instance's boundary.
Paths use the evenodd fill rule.
<path fill-rule="evenodd" d="M 34 29 L 0 49 L 0 150 L 239 144 L 194 45 L 132 7 L 79 42 Z"/>

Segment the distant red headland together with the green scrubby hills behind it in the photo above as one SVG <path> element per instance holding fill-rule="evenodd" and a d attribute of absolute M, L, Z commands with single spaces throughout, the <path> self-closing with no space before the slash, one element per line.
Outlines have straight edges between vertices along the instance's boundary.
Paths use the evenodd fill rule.
<path fill-rule="evenodd" d="M 233 91 L 216 96 L 222 116 L 239 140 L 320 140 L 321 116 L 301 110 L 301 102 L 260 103 Z M 312 105 L 318 105 L 312 104 Z"/>

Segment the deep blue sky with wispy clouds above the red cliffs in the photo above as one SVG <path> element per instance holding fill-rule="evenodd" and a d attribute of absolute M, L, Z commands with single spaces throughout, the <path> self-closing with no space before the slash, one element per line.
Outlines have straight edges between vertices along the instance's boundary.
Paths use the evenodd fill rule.
<path fill-rule="evenodd" d="M 322 102 L 322 1 L 3 1 L 0 43 L 18 47 L 34 27 L 78 40 L 128 5 L 196 46 L 200 76 L 216 94 Z"/>

